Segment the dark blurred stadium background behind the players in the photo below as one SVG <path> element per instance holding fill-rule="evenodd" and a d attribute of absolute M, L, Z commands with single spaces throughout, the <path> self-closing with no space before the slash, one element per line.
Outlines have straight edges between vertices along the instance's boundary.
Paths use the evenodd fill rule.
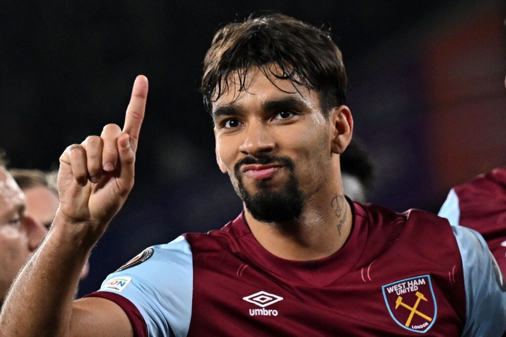
<path fill-rule="evenodd" d="M 0 147 L 10 167 L 56 168 L 66 146 L 122 125 L 135 76 L 150 80 L 136 186 L 80 294 L 144 247 L 240 212 L 198 88 L 216 28 L 263 9 L 331 27 L 354 135 L 376 165 L 370 201 L 437 212 L 451 186 L 505 163 L 503 0 L 3 1 Z"/>

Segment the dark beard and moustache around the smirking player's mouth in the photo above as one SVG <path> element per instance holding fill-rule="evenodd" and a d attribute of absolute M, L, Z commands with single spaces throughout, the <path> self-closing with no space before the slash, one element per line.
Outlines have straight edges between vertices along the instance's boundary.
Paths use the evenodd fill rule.
<path fill-rule="evenodd" d="M 267 180 L 259 180 L 256 184 L 259 188 L 257 193 L 250 193 L 242 182 L 240 172 L 241 165 L 279 163 L 290 174 L 288 181 L 278 190 L 273 191 L 268 186 Z M 245 157 L 234 166 L 234 175 L 237 179 L 236 192 L 244 202 L 253 218 L 261 222 L 287 222 L 296 220 L 302 213 L 305 197 L 299 187 L 299 181 L 295 177 L 295 164 L 284 156 L 262 155 L 257 157 Z"/>

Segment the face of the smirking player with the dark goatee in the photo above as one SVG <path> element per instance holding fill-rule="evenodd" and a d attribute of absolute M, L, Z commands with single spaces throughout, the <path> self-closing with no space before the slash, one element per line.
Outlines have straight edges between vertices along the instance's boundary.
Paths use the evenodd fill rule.
<path fill-rule="evenodd" d="M 255 219 L 289 221 L 325 183 L 332 128 L 315 91 L 247 74 L 245 90 L 231 78 L 213 104 L 218 164 Z"/>

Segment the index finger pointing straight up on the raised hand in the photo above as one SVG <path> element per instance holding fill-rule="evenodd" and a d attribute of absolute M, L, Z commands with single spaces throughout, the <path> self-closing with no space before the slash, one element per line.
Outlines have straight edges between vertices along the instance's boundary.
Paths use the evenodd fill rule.
<path fill-rule="evenodd" d="M 139 75 L 135 79 L 132 97 L 128 108 L 126 108 L 125 123 L 123 132 L 130 136 L 130 146 L 134 152 L 137 151 L 137 142 L 141 132 L 142 120 L 146 109 L 146 98 L 148 97 L 148 79 Z"/>

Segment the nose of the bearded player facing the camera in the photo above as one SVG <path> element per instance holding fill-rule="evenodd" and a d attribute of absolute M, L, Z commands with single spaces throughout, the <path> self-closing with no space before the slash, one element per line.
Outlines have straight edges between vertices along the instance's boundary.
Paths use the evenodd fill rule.
<path fill-rule="evenodd" d="M 276 147 L 268 126 L 262 120 L 249 123 L 245 133 L 244 141 L 239 146 L 239 151 L 243 154 L 255 156 L 258 153 L 270 152 Z"/>

